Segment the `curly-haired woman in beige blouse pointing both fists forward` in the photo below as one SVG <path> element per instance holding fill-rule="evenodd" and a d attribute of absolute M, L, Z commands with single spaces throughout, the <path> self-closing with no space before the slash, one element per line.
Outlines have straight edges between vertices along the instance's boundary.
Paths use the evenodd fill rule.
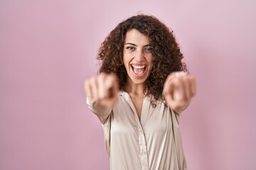
<path fill-rule="evenodd" d="M 172 31 L 154 16 L 119 23 L 99 50 L 100 73 L 85 81 L 100 119 L 110 169 L 186 169 L 178 117 L 196 94 Z"/>

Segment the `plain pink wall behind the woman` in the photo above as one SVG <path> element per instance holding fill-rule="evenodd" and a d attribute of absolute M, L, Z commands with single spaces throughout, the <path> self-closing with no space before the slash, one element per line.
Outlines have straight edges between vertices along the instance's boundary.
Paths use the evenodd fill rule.
<path fill-rule="evenodd" d="M 0 1 L 0 169 L 109 169 L 84 79 L 124 18 L 170 26 L 196 76 L 181 116 L 191 170 L 256 169 L 256 1 Z"/>

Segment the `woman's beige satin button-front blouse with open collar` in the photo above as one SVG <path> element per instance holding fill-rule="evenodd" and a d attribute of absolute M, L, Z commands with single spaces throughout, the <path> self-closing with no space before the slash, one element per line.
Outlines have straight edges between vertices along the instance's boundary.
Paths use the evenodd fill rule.
<path fill-rule="evenodd" d="M 87 98 L 90 110 L 100 119 L 105 132 L 105 147 L 112 170 L 183 170 L 183 154 L 178 114 L 159 102 L 151 106 L 145 96 L 141 119 L 129 94 L 119 93 L 113 110 Z"/>

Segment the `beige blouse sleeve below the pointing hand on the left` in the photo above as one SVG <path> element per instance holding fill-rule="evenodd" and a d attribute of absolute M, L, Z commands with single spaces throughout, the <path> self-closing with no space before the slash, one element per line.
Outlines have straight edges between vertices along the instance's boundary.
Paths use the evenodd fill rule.
<path fill-rule="evenodd" d="M 90 111 L 97 115 L 102 125 L 105 125 L 105 123 L 107 122 L 107 118 L 110 116 L 111 110 L 106 108 L 105 106 L 100 105 L 100 103 L 92 101 L 88 97 L 86 98 L 86 102 Z"/>

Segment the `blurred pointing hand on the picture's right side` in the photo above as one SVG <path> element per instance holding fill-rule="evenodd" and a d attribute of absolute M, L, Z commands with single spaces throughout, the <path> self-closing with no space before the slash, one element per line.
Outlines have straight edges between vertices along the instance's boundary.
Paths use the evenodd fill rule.
<path fill-rule="evenodd" d="M 172 110 L 180 113 L 196 95 L 196 79 L 186 72 L 174 72 L 164 83 L 163 94 Z"/>

